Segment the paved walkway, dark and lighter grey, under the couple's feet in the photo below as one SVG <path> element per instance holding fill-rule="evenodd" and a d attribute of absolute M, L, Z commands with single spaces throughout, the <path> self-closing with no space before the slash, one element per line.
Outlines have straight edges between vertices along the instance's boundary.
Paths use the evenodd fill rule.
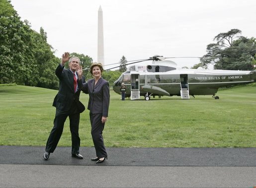
<path fill-rule="evenodd" d="M 250 188 L 256 148 L 107 148 L 95 164 L 93 147 L 58 146 L 48 161 L 41 146 L 0 146 L 0 188 Z"/>

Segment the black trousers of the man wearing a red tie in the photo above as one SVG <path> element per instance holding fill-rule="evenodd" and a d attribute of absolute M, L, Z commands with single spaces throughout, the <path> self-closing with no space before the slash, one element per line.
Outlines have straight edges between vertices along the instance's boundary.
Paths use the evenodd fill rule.
<path fill-rule="evenodd" d="M 55 150 L 64 128 L 64 123 L 69 116 L 70 119 L 70 132 L 72 138 L 72 154 L 79 153 L 80 138 L 79 138 L 79 120 L 80 112 L 77 109 L 76 102 L 73 101 L 69 111 L 63 112 L 56 109 L 54 127 L 50 133 L 48 141 L 46 143 L 45 151 L 53 153 Z"/>

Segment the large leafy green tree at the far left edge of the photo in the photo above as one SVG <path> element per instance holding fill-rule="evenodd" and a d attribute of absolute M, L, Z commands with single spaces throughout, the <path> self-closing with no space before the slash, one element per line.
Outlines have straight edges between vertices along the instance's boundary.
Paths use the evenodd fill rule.
<path fill-rule="evenodd" d="M 0 82 L 22 82 L 34 67 L 29 51 L 30 28 L 20 20 L 9 0 L 0 1 Z"/>

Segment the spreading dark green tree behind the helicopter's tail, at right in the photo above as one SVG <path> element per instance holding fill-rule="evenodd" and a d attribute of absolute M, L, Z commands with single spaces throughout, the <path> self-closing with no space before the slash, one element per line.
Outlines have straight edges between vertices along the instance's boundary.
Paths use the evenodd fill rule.
<path fill-rule="evenodd" d="M 209 44 L 207 54 L 200 60 L 202 66 L 214 64 L 214 69 L 252 70 L 252 61 L 256 54 L 256 39 L 238 36 L 241 31 L 232 29 L 227 33 L 220 33 L 214 40 L 216 44 Z M 235 40 L 235 38 L 238 38 Z"/>

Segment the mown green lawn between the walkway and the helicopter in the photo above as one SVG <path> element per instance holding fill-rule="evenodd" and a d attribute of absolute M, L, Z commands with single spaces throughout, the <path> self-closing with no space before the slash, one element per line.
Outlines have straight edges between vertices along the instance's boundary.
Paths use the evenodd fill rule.
<path fill-rule="evenodd" d="M 53 127 L 58 91 L 0 86 L 0 145 L 44 146 Z M 103 137 L 107 147 L 256 147 L 256 85 L 182 100 L 120 100 L 110 91 Z M 88 95 L 81 94 L 87 106 Z M 89 111 L 81 114 L 81 146 L 93 146 Z M 67 119 L 59 146 L 71 146 Z"/>

